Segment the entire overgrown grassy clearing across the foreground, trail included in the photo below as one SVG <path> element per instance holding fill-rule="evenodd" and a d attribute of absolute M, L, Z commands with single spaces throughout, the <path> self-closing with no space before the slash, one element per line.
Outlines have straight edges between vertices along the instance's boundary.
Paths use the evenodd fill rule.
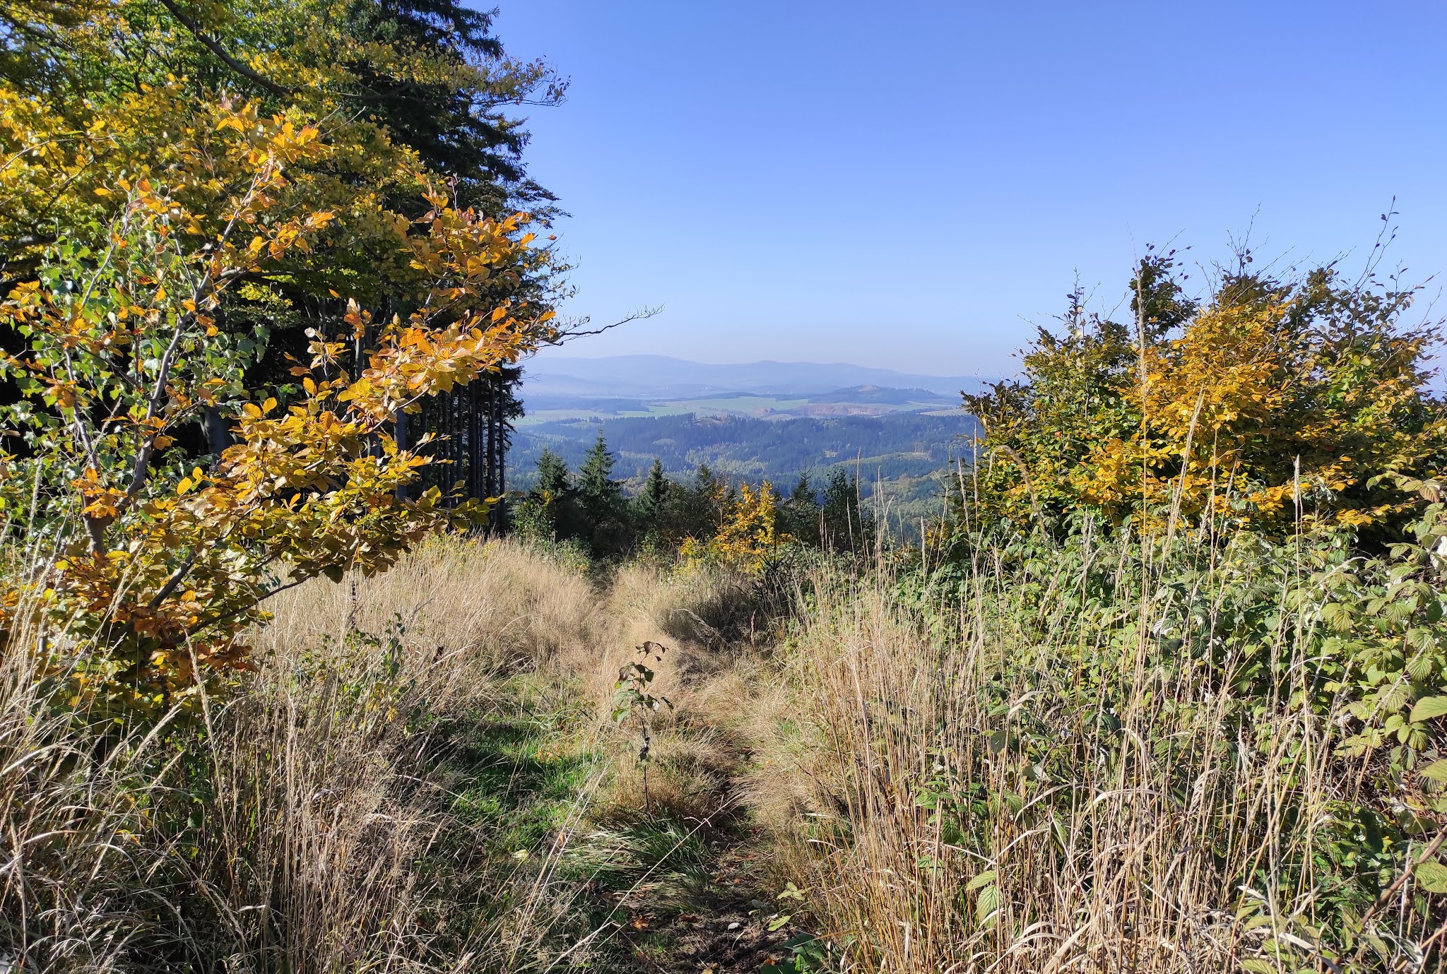
<path fill-rule="evenodd" d="M 1373 570 L 1088 528 L 767 580 L 437 538 L 278 596 L 227 699 L 135 727 L 12 640 L 0 938 L 87 971 L 1435 970 L 1434 754 L 1353 755 L 1323 666 L 1325 593 Z"/>

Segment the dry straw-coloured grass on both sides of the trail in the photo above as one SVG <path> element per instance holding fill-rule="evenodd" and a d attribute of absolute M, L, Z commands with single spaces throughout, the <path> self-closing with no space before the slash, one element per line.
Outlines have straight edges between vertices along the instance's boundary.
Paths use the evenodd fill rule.
<path fill-rule="evenodd" d="M 1168 601 L 1072 614 L 1058 570 L 1026 588 L 985 567 L 948 598 L 820 573 L 770 650 L 728 573 L 634 564 L 599 585 L 440 540 L 285 593 L 243 693 L 145 732 L 77 727 L 12 651 L 0 942 L 68 971 L 593 962 L 579 870 L 703 889 L 696 832 L 747 806 L 845 970 L 1424 970 L 1435 915 L 1411 897 L 1346 958 L 1323 926 L 1314 857 L 1362 779 L 1334 725 L 1171 666 L 1139 635 Z M 1192 585 L 1217 605 L 1218 583 Z M 1305 679 L 1285 589 L 1253 598 L 1281 601 L 1283 673 Z M 637 727 L 611 719 L 645 641 L 669 647 L 651 689 L 674 703 L 654 715 L 654 816 Z M 577 719 L 548 753 L 592 771 L 535 855 L 488 852 L 493 826 L 453 808 L 459 728 L 550 706 Z"/>

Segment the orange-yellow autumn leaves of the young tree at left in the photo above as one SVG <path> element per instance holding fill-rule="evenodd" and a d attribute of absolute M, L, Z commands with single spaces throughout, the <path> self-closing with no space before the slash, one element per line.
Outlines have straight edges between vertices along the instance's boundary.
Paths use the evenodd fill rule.
<path fill-rule="evenodd" d="M 0 457 L 0 505 L 16 509 L 43 483 L 35 496 L 51 505 L 64 553 L 43 576 L 0 582 L 0 630 L 26 605 L 87 657 L 78 698 L 164 706 L 243 664 L 237 637 L 263 618 L 276 575 L 379 572 L 425 533 L 479 514 L 436 489 L 410 496 L 427 459 L 398 449 L 391 424 L 420 398 L 515 362 L 548 334 L 548 316 L 485 298 L 483 285 L 530 259 L 518 219 L 450 208 L 430 188 L 420 221 L 373 201 L 366 232 L 423 271 L 404 288 L 415 287 L 404 300 L 420 310 L 378 327 L 349 300 L 344 336 L 308 331 L 297 398 L 245 401 L 259 346 L 218 327 L 226 291 L 255 302 L 243 278 L 285 275 L 301 258 L 327 284 L 353 282 L 327 266 L 349 256 L 328 250 L 341 220 L 313 206 L 315 169 L 304 169 L 331 148 L 315 126 L 246 103 L 181 104 L 155 87 L 129 104 L 149 113 L 150 130 L 179 132 L 166 165 L 85 187 L 85 206 L 107 213 L 100 242 L 62 237 L 39 279 L 0 304 L 0 321 L 26 337 L 0 356 L 0 378 L 20 389 L 17 405 L 0 405 L 0 428 L 23 428 L 33 444 Z M 0 140 L 6 132 L 0 122 Z M 0 171 L 0 192 L 7 178 Z M 349 224 L 356 213 L 343 213 Z M 346 294 L 337 288 L 333 298 Z M 232 446 L 204 469 L 168 454 L 182 428 L 216 415 Z"/>

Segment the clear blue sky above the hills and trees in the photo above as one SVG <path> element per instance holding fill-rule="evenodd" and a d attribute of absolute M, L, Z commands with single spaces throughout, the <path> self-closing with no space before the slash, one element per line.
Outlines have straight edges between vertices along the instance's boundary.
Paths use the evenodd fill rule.
<path fill-rule="evenodd" d="M 528 152 L 566 311 L 664 305 L 566 355 L 1009 375 L 1077 275 L 1356 269 L 1393 195 L 1389 263 L 1447 271 L 1447 4 L 498 3 L 572 78 Z"/>

